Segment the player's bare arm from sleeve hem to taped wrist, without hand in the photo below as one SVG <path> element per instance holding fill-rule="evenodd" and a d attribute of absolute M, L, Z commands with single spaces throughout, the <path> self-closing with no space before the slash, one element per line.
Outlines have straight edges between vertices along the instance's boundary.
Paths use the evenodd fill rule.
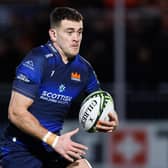
<path fill-rule="evenodd" d="M 53 147 L 58 136 L 49 132 L 49 130 L 43 127 L 39 120 L 28 111 L 32 103 L 32 99 L 13 91 L 8 108 L 8 118 L 21 131 L 32 137 L 38 138 Z"/>

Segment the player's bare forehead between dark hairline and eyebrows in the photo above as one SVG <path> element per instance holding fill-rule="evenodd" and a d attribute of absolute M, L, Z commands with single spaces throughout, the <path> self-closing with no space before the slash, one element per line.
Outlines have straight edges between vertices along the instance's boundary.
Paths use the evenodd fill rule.
<path fill-rule="evenodd" d="M 60 28 L 63 28 L 63 29 L 75 29 L 75 30 L 78 30 L 78 29 L 81 29 L 83 28 L 83 21 L 71 21 L 71 20 L 62 20 L 61 21 L 61 24 L 60 24 Z"/>

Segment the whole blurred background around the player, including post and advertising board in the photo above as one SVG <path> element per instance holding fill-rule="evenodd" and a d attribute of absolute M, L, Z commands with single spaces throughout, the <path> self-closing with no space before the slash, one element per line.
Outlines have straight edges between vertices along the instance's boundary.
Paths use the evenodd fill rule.
<path fill-rule="evenodd" d="M 1 0 L 0 134 L 15 68 L 32 47 L 47 42 L 48 15 L 56 6 L 75 7 L 85 17 L 80 54 L 113 96 L 120 119 L 111 135 L 81 131 L 76 137 L 90 147 L 93 167 L 167 168 L 167 0 Z M 65 130 L 77 124 L 74 111 Z"/>

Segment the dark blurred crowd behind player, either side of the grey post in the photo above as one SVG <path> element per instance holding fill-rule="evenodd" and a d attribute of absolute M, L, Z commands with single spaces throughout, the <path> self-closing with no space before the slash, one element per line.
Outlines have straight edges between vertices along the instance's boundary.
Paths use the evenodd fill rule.
<path fill-rule="evenodd" d="M 48 40 L 49 11 L 61 5 L 81 10 L 85 17 L 81 55 L 93 64 L 101 82 L 114 81 L 114 0 L 14 2 L 6 0 L 0 4 L 2 82 L 11 82 L 15 67 L 25 54 L 32 47 Z M 168 41 L 167 1 L 126 0 L 125 4 L 125 72 L 128 84 L 135 87 L 149 85 L 153 88 L 160 82 L 166 83 L 168 81 L 168 76 L 165 74 Z"/>

